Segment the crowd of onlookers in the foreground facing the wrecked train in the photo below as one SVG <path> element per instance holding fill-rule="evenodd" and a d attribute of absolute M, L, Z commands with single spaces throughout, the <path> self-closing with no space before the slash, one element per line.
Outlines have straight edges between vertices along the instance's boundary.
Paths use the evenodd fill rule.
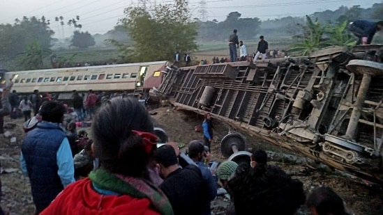
<path fill-rule="evenodd" d="M 1 102 L 0 114 L 9 114 L 6 90 Z M 231 196 L 227 214 L 294 214 L 305 202 L 313 214 L 345 214 L 343 200 L 327 187 L 306 198 L 303 184 L 267 165 L 263 150 L 255 150 L 247 165 L 209 166 L 209 113 L 202 123 L 204 139 L 191 140 L 186 155 L 172 142 L 157 148 L 151 116 L 137 98 L 102 102 L 90 116 L 92 138 L 78 132 L 77 142 L 83 141 L 76 151 L 68 133 L 75 133 L 75 123 L 68 131 L 62 127 L 67 112 L 54 99 L 43 102 L 40 120 L 22 143 L 20 164 L 31 182 L 36 214 L 211 214 L 220 186 Z"/>

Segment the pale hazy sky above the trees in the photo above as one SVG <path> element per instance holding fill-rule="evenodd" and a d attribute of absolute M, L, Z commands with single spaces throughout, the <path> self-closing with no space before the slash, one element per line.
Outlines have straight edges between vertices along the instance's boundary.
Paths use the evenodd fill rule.
<path fill-rule="evenodd" d="M 113 29 L 118 20 L 123 17 L 123 8 L 135 6 L 140 0 L 1 0 L 0 23 L 13 24 L 16 18 L 45 16 L 52 20 L 50 27 L 56 31 L 54 37 L 61 31 L 54 17 L 63 16 L 65 23 L 68 19 L 80 16 L 82 31 L 91 34 L 106 33 Z M 141 0 L 149 3 L 170 3 L 172 0 Z M 205 4 L 201 3 L 204 1 Z M 303 16 L 323 10 L 336 10 L 340 6 L 360 5 L 368 8 L 382 0 L 190 0 L 189 6 L 193 17 L 217 19 L 222 21 L 232 11 L 241 13 L 241 17 L 259 17 L 262 20 L 286 16 Z M 201 10 L 201 8 L 204 8 Z M 205 13 L 202 13 L 205 11 Z M 67 36 L 73 32 L 73 27 L 65 26 Z M 62 35 L 62 33 L 61 33 Z"/>

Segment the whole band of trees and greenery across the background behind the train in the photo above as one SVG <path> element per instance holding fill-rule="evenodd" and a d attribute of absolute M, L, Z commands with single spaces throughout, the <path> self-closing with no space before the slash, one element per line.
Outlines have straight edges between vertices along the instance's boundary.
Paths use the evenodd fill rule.
<path fill-rule="evenodd" d="M 345 29 L 347 22 L 383 19 L 383 3 L 375 3 L 372 8 L 342 6 L 307 17 L 283 17 L 262 22 L 257 17 L 241 17 L 241 13 L 234 11 L 223 21 L 213 19 L 202 22 L 192 18 L 186 0 L 154 5 L 145 2 L 125 8 L 120 24 L 108 31 L 107 36 L 95 36 L 117 47 L 123 62 L 172 60 L 175 51 L 196 51 L 197 42 L 227 42 L 233 29 L 238 29 L 241 40 L 257 39 L 258 34 L 294 37 L 294 49 L 308 53 L 331 41 L 337 45 L 350 45 L 352 38 Z M 52 30 L 54 22 L 57 34 Z M 1 62 L 14 58 L 18 59 L 17 63 L 24 70 L 46 67 L 42 58 L 52 55 L 50 48 L 54 35 L 65 38 L 64 26 L 73 27 L 70 40 L 73 47 L 85 49 L 96 44 L 91 33 L 81 32 L 79 16 L 68 21 L 63 17 L 54 17 L 53 21 L 45 17 L 23 17 L 16 19 L 14 24 L 0 25 L 0 67 Z M 308 35 L 315 36 L 310 38 Z M 55 41 L 60 42 L 59 39 Z"/>

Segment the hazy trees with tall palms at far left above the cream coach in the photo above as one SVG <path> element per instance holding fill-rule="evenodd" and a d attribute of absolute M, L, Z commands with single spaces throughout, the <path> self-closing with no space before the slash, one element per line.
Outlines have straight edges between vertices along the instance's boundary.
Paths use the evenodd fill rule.
<path fill-rule="evenodd" d="M 55 17 L 54 21 L 58 27 L 61 26 L 63 35 L 63 17 Z M 69 19 L 67 24 L 74 27 L 71 46 L 86 48 L 96 44 L 90 33 L 80 32 L 82 24 L 79 16 Z M 25 69 L 44 67 L 43 58 L 52 54 L 50 47 L 53 36 L 57 35 L 51 25 L 52 20 L 45 16 L 40 18 L 24 16 L 22 19 L 15 19 L 14 24 L 0 24 L 0 67 L 2 63 L 14 59 Z"/>

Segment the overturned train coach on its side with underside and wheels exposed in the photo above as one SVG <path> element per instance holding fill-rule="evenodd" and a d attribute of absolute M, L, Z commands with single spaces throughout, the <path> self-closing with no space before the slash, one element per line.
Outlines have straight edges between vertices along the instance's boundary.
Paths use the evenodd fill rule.
<path fill-rule="evenodd" d="M 383 46 L 173 69 L 154 97 L 383 184 Z"/>

